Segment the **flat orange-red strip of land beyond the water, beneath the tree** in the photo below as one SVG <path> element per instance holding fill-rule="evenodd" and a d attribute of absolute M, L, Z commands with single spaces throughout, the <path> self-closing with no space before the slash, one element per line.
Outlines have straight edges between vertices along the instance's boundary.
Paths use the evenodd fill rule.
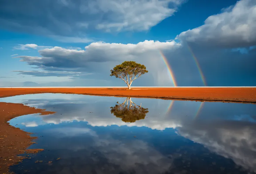
<path fill-rule="evenodd" d="M 182 99 L 195 101 L 256 102 L 256 88 L 0 88 L 0 97 L 24 94 L 65 93 L 117 97 Z"/>

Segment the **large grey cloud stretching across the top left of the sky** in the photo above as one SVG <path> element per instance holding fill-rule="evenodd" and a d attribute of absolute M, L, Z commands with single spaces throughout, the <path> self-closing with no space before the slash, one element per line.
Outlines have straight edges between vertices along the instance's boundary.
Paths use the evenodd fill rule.
<path fill-rule="evenodd" d="M 92 29 L 106 32 L 145 31 L 172 16 L 183 2 L 184 0 L 15 0 L 0 2 L 0 23 L 1 27 L 7 29 L 49 36 L 78 37 Z M 87 39 L 78 40 L 85 42 Z"/>

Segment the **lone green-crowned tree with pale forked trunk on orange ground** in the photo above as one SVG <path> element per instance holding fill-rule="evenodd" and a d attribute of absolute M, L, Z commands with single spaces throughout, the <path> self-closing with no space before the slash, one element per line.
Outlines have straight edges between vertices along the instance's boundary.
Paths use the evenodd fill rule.
<path fill-rule="evenodd" d="M 122 79 L 127 84 L 128 89 L 131 89 L 133 81 L 149 71 L 147 71 L 146 67 L 142 64 L 134 61 L 125 61 L 122 64 L 115 66 L 110 72 L 110 76 Z"/>

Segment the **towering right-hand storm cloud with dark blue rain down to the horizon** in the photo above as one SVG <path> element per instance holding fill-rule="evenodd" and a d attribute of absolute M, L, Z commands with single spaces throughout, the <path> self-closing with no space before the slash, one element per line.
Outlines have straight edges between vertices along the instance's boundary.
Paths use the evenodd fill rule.
<path fill-rule="evenodd" d="M 183 47 L 167 56 L 178 84 L 200 84 L 194 77 L 204 76 L 208 86 L 255 86 L 255 9 L 254 0 L 241 0 L 209 16 L 204 25 L 179 34 L 175 39 Z"/>

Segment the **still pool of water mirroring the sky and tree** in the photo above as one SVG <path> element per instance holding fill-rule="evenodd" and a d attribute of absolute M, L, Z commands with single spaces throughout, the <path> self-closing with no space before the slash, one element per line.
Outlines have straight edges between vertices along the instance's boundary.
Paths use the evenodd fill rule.
<path fill-rule="evenodd" d="M 17 174 L 256 172 L 254 104 L 73 94 L 23 95 L 0 102 L 56 112 L 10 120 L 38 137 L 29 148 L 45 149 L 11 166 Z"/>

